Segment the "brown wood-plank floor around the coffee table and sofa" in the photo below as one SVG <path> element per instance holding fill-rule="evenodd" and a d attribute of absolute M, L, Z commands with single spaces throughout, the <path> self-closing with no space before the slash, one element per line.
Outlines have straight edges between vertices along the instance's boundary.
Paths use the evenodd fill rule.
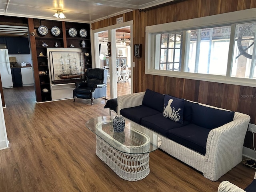
<path fill-rule="evenodd" d="M 223 180 L 245 188 L 255 170 L 241 163 L 212 182 L 161 150 L 150 153 L 150 174 L 129 182 L 95 154 L 96 136 L 85 127 L 108 115 L 106 100 L 35 103 L 33 87 L 5 89 L 10 147 L 0 150 L 0 192 L 216 192 Z"/>

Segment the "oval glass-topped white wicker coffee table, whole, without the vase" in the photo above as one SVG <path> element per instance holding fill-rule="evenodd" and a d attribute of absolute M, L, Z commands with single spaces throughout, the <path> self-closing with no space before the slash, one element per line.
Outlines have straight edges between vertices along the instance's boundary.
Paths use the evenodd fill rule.
<path fill-rule="evenodd" d="M 150 130 L 125 119 L 123 132 L 114 132 L 115 116 L 100 116 L 86 122 L 96 134 L 96 155 L 120 178 L 138 181 L 149 170 L 149 153 L 161 146 L 161 139 Z"/>

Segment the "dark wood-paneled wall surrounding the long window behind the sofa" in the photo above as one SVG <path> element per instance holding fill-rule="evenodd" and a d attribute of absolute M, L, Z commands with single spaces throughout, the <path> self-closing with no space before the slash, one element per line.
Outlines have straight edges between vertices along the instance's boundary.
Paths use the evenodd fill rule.
<path fill-rule="evenodd" d="M 251 116 L 256 124 L 256 88 L 224 83 L 190 80 L 145 74 L 145 27 L 150 25 L 199 18 L 238 10 L 256 8 L 256 0 L 187 0 L 145 12 L 135 10 L 92 24 L 92 29 L 116 24 L 116 18 L 124 16 L 124 22 L 133 20 L 133 43 L 142 44 L 142 57 L 133 58 L 133 92 L 147 88 L 163 94 L 171 94 L 196 102 L 242 112 Z M 132 15 L 132 16 L 131 16 Z M 144 45 L 144 46 L 143 46 Z M 248 96 L 248 97 L 246 97 Z M 247 132 L 244 146 L 252 148 L 252 135 Z"/>

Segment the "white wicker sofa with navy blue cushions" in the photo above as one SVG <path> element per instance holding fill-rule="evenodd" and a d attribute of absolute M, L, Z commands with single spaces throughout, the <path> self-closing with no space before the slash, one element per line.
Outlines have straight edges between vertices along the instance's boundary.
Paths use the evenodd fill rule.
<path fill-rule="evenodd" d="M 164 116 L 166 98 L 149 89 L 119 96 L 117 112 L 158 134 L 162 139 L 160 149 L 212 181 L 242 160 L 250 116 L 172 97 L 172 104 L 181 101 L 179 112 L 183 111 L 179 114 L 182 121 L 175 122 Z"/>

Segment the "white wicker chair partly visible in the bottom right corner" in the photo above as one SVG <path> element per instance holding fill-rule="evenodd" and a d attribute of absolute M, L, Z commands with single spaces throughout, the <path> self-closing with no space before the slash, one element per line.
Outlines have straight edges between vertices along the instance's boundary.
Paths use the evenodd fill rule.
<path fill-rule="evenodd" d="M 246 191 L 239 188 L 238 186 L 230 183 L 229 181 L 222 181 L 218 187 L 218 192 L 255 192 L 256 191 L 256 172 L 254 180 L 250 185 L 246 187 Z"/>

